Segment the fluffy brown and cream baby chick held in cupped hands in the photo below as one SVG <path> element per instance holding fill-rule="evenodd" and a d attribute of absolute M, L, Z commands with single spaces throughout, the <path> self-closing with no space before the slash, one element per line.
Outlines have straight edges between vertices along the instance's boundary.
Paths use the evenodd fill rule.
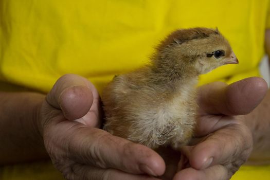
<path fill-rule="evenodd" d="M 238 60 L 218 29 L 172 32 L 149 65 L 116 76 L 105 87 L 104 129 L 152 149 L 179 150 L 193 134 L 198 76 L 224 64 Z"/>

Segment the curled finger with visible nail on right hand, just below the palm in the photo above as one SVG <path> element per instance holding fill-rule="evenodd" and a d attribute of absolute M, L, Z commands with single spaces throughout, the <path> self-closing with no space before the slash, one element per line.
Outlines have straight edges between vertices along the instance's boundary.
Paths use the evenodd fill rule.
<path fill-rule="evenodd" d="M 252 147 L 248 128 L 231 124 L 208 136 L 192 149 L 183 148 L 183 152 L 195 169 L 221 164 L 228 166 L 231 171 L 236 171 L 247 160 Z"/>

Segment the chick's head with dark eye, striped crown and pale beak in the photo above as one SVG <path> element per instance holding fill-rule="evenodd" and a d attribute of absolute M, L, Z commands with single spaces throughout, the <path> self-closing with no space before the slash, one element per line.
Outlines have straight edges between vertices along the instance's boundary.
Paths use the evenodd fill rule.
<path fill-rule="evenodd" d="M 218 29 L 180 29 L 171 33 L 158 47 L 163 61 L 174 63 L 174 67 L 187 67 L 198 74 L 225 64 L 238 64 L 229 42 Z M 169 63 L 168 62 L 168 63 Z"/>

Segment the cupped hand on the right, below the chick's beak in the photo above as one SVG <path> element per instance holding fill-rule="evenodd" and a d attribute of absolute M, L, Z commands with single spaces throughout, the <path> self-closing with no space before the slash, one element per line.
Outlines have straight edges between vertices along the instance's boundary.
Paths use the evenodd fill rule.
<path fill-rule="evenodd" d="M 253 149 L 246 121 L 256 117 L 247 114 L 262 101 L 266 91 L 266 82 L 256 77 L 230 85 L 215 82 L 200 87 L 196 138 L 182 152 L 189 167 L 177 172 L 173 179 L 230 179 Z M 182 159 L 182 168 L 183 164 Z"/>

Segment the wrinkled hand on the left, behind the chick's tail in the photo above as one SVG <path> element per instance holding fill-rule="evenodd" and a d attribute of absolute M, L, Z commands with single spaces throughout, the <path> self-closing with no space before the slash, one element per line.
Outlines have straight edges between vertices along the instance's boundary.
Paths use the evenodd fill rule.
<path fill-rule="evenodd" d="M 100 112 L 96 88 L 77 75 L 61 77 L 43 102 L 39 129 L 66 179 L 150 180 L 164 173 L 156 152 L 98 129 Z"/>

